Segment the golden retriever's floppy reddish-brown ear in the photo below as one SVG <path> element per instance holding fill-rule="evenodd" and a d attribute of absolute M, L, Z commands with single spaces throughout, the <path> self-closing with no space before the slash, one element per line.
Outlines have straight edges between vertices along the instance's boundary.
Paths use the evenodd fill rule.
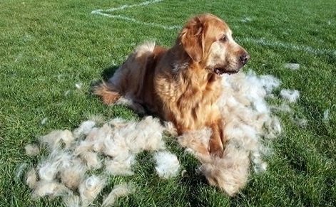
<path fill-rule="evenodd" d="M 198 16 L 192 18 L 183 27 L 179 35 L 179 41 L 186 53 L 195 62 L 200 62 L 204 53 L 205 28 Z"/>

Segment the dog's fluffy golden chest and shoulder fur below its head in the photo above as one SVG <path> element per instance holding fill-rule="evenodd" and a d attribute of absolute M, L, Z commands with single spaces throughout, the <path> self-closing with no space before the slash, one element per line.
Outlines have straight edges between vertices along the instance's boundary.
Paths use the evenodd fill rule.
<path fill-rule="evenodd" d="M 190 67 L 174 73 L 159 70 L 154 80 L 156 95 L 163 105 L 161 114 L 174 122 L 179 132 L 200 129 L 218 118 L 220 78 L 203 68 Z"/>

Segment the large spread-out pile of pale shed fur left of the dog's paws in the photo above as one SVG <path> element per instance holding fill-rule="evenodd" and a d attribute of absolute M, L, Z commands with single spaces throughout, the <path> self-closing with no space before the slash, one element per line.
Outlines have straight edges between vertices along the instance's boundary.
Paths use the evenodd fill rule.
<path fill-rule="evenodd" d="M 162 139 L 164 127 L 153 117 L 140 122 L 114 119 L 102 127 L 95 126 L 96 122 L 88 120 L 73 132 L 56 130 L 40 137 L 41 146 L 48 147 L 50 154 L 38 164 L 38 176 L 34 170 L 27 177 L 26 182 L 34 190 L 34 197 L 68 196 L 64 192 L 78 189 L 81 205 L 86 206 L 105 186 L 105 179 L 101 176 L 85 179 L 86 171 L 103 167 L 108 174 L 131 175 L 137 153 L 165 147 Z M 98 154 L 103 156 L 103 160 Z M 25 167 L 26 164 L 20 171 Z M 66 197 L 64 201 L 76 206 L 78 202 L 73 198 Z"/>

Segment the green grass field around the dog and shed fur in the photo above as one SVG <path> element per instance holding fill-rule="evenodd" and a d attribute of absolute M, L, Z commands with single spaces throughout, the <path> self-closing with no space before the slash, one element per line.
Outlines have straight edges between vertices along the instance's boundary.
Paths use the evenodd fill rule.
<path fill-rule="evenodd" d="M 134 176 L 110 179 L 111 186 L 133 181 L 139 189 L 118 206 L 336 206 L 335 0 L 167 0 L 104 11 L 118 18 L 91 14 L 141 2 L 0 1 L 0 206 L 60 206 L 58 199 L 32 200 L 29 188 L 15 178 L 19 164 L 41 159 L 26 156 L 26 144 L 93 115 L 136 118 L 126 107 L 102 105 L 90 95 L 91 83 L 143 41 L 171 46 L 178 33 L 174 26 L 205 12 L 228 22 L 252 57 L 247 68 L 299 90 L 300 100 L 290 105 L 291 113 L 278 114 L 283 132 L 268 157 L 268 171 L 252 174 L 237 196 L 208 186 L 193 173 L 198 161 L 170 141 L 190 174 L 159 179 L 153 163 L 141 164 L 151 158 L 143 153 Z M 299 63 L 300 69 L 284 63 Z M 307 126 L 298 126 L 295 118 L 307 120 Z"/>

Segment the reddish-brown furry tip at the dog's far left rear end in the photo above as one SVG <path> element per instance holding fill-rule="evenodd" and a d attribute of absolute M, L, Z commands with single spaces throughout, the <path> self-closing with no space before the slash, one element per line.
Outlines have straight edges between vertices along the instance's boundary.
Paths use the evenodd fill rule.
<path fill-rule="evenodd" d="M 93 94 L 98 95 L 106 105 L 113 105 L 120 97 L 121 94 L 115 90 L 111 83 L 102 82 L 93 87 Z"/>

